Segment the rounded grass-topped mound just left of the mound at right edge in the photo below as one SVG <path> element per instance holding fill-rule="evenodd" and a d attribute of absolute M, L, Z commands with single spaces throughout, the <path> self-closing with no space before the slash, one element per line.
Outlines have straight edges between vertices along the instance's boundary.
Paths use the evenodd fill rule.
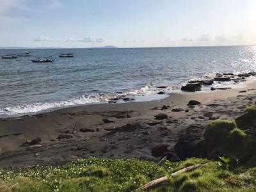
<path fill-rule="evenodd" d="M 225 146 L 227 136 L 234 129 L 236 129 L 236 123 L 228 120 L 218 120 L 207 125 L 204 133 L 207 150 Z"/>

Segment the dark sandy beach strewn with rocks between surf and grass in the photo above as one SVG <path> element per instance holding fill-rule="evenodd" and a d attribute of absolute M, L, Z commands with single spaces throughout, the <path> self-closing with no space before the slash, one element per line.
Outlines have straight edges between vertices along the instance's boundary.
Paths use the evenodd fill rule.
<path fill-rule="evenodd" d="M 255 88 L 256 82 L 251 82 L 231 90 L 171 93 L 151 102 L 93 104 L 1 119 L 0 165 L 65 164 L 90 156 L 157 161 L 163 155 L 154 152 L 157 146 L 172 152 L 180 138 L 200 139 L 211 120 L 233 119 L 243 113 L 255 104 Z M 193 99 L 201 104 L 189 108 Z M 164 105 L 167 109 L 162 109 Z M 156 119 L 159 113 L 167 117 Z M 189 127 L 193 136 L 186 131 Z M 20 146 L 35 138 L 41 141 Z"/>

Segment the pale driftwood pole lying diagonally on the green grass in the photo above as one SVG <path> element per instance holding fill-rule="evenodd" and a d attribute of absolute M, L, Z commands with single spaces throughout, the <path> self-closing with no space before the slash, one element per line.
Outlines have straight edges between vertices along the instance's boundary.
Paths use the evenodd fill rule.
<path fill-rule="evenodd" d="M 184 168 L 182 170 L 179 170 L 179 171 L 177 171 L 175 173 L 172 173 L 170 175 L 170 177 L 175 177 L 175 176 L 179 175 L 180 173 L 190 172 L 192 170 L 195 170 L 196 168 L 199 168 L 202 165 L 203 164 L 195 164 L 195 165 L 192 165 L 192 166 L 188 166 L 188 167 L 186 167 L 186 168 Z M 166 176 L 161 177 L 161 178 L 156 179 L 156 180 L 152 180 L 152 181 L 148 182 L 147 184 L 145 184 L 145 186 L 142 186 L 142 187 L 136 189 L 136 191 L 153 188 L 153 187 L 157 186 L 158 184 L 160 184 L 162 182 L 165 182 L 167 180 L 168 180 L 168 177 L 166 177 Z"/>

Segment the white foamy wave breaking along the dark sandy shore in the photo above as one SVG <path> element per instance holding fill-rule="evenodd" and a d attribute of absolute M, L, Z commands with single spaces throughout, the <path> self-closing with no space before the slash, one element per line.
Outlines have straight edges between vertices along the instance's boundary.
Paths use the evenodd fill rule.
<path fill-rule="evenodd" d="M 246 70 L 247 72 L 247 70 Z M 234 72 L 234 74 L 239 74 L 241 72 Z M 212 79 L 215 76 L 216 72 L 210 74 L 204 74 L 197 77 L 191 77 L 188 81 L 196 81 L 203 79 Z M 6 106 L 5 108 L 0 109 L 0 115 L 19 115 L 19 114 L 28 114 L 28 113 L 37 113 L 40 111 L 45 111 L 54 108 L 63 108 L 67 106 L 77 106 L 83 104 L 93 104 L 100 102 L 108 102 L 111 99 L 115 98 L 124 98 L 124 97 L 134 97 L 134 96 L 144 96 L 156 94 L 159 91 L 164 91 L 170 93 L 173 90 L 179 90 L 180 86 L 188 83 L 184 81 L 176 86 L 157 86 L 156 83 L 147 84 L 141 87 L 138 90 L 128 90 L 124 92 L 117 93 L 90 93 L 81 95 L 81 97 L 76 97 L 74 99 L 58 101 L 58 102 L 36 102 L 33 104 L 17 104 L 13 106 Z"/>

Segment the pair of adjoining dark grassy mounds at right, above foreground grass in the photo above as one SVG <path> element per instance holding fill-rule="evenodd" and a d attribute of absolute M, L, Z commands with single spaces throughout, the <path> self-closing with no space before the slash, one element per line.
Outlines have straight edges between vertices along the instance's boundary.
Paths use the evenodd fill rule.
<path fill-rule="evenodd" d="M 209 157 L 225 156 L 244 166 L 256 166 L 255 120 L 256 107 L 252 106 L 236 122 L 218 120 L 207 125 L 204 144 Z"/>

